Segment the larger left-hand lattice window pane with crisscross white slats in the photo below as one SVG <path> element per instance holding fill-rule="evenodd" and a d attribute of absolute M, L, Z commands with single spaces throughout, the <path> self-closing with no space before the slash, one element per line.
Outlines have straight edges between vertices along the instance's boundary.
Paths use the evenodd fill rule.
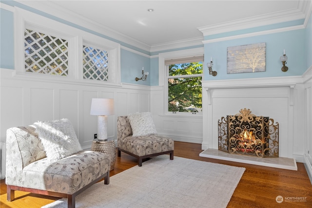
<path fill-rule="evenodd" d="M 25 71 L 68 76 L 68 41 L 30 29 L 24 32 Z"/>

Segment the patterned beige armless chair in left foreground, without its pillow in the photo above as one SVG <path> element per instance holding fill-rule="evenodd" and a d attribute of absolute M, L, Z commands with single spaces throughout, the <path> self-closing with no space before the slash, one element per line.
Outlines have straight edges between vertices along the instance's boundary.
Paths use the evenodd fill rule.
<path fill-rule="evenodd" d="M 21 190 L 68 198 L 68 207 L 75 208 L 75 197 L 79 193 L 103 178 L 104 184 L 109 184 L 108 154 L 79 151 L 50 160 L 35 130 L 35 126 L 7 130 L 5 183 L 8 201 L 14 200 L 15 190 Z"/>

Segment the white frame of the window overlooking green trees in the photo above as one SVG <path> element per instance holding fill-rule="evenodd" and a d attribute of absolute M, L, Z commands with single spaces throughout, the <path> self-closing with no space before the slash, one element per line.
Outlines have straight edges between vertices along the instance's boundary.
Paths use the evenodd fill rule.
<path fill-rule="evenodd" d="M 192 113 L 192 112 L 169 112 L 168 111 L 168 67 L 166 66 L 165 62 L 168 62 L 170 59 L 185 59 L 192 57 L 198 57 L 204 55 L 204 48 L 194 48 L 194 49 L 187 49 L 187 50 L 180 50 L 174 52 L 166 52 L 160 53 L 158 56 L 158 66 L 159 66 L 159 79 L 158 83 L 159 86 L 163 86 L 163 96 L 164 96 L 164 103 L 163 103 L 163 114 L 166 115 L 202 115 L 202 112 Z M 203 62 L 204 64 L 204 62 Z M 204 66 L 203 66 L 204 70 Z M 195 75 L 198 76 L 198 75 Z M 203 74 L 201 75 L 203 78 Z"/>

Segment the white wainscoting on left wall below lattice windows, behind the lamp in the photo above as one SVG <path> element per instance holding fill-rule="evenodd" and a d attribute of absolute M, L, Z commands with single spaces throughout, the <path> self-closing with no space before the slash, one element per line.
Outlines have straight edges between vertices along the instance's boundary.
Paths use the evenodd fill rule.
<path fill-rule="evenodd" d="M 90 149 L 98 123 L 98 116 L 90 115 L 92 98 L 115 99 L 115 114 L 108 116 L 109 139 L 117 139 L 117 116 L 151 111 L 149 86 L 107 85 L 0 70 L 1 149 L 5 149 L 7 129 L 65 117 L 73 123 L 81 147 Z M 0 161 L 2 177 L 5 175 L 5 151 L 1 151 Z"/>

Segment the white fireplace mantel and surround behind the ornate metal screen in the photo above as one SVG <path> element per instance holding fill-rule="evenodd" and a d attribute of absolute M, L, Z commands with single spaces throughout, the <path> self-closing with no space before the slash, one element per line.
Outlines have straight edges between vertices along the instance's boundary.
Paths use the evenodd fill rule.
<path fill-rule="evenodd" d="M 302 76 L 206 80 L 203 88 L 202 149 L 218 149 L 218 120 L 247 108 L 279 123 L 279 156 L 300 158 L 304 116 Z M 294 142 L 295 141 L 295 142 Z"/>

